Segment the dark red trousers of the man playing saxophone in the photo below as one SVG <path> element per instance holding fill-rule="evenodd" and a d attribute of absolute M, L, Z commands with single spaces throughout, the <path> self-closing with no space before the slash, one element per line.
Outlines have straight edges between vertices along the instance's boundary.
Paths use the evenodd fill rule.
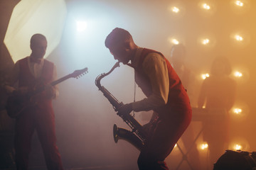
<path fill-rule="evenodd" d="M 191 122 L 191 112 L 174 113 L 170 118 L 158 118 L 152 123 L 150 136 L 139 154 L 140 170 L 168 169 L 164 159 L 171 153 L 183 132 Z"/>

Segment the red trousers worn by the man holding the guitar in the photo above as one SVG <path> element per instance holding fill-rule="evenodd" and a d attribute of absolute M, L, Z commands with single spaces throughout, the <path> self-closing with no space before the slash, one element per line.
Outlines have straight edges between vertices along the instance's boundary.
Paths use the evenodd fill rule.
<path fill-rule="evenodd" d="M 16 169 L 28 169 L 28 154 L 31 152 L 31 137 L 34 130 L 41 142 L 48 170 L 63 170 L 56 146 L 55 117 L 51 106 L 27 108 L 16 118 L 14 137 Z"/>

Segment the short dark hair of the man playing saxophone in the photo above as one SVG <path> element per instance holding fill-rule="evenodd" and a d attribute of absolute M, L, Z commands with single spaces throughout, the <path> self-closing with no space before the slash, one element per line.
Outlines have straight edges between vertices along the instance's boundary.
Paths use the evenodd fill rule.
<path fill-rule="evenodd" d="M 114 30 L 112 30 L 112 32 L 107 35 L 105 46 L 110 48 L 127 40 L 132 40 L 132 35 L 127 30 L 122 28 L 114 28 Z"/>

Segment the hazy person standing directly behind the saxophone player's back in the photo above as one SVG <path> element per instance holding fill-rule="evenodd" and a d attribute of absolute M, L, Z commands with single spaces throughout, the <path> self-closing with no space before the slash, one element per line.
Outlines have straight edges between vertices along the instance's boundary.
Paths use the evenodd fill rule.
<path fill-rule="evenodd" d="M 171 65 L 180 77 L 181 82 L 185 89 L 187 90 L 188 97 L 190 101 L 195 101 L 194 91 L 195 86 L 193 86 L 193 81 L 195 81 L 195 76 L 191 69 L 186 66 L 186 47 L 183 44 L 173 45 L 171 47 Z M 191 103 L 192 105 L 192 103 Z M 193 105 L 192 105 L 193 106 Z M 193 113 L 192 113 L 193 114 Z M 181 140 L 186 150 L 183 150 L 184 154 L 188 153 L 186 158 L 188 159 L 188 164 L 192 169 L 201 169 L 200 157 L 196 143 L 193 143 L 196 138 L 195 132 L 193 130 L 193 122 L 188 126 L 186 131 L 181 136 Z M 182 148 L 183 149 L 183 148 Z M 184 160 L 185 161 L 185 160 Z"/>

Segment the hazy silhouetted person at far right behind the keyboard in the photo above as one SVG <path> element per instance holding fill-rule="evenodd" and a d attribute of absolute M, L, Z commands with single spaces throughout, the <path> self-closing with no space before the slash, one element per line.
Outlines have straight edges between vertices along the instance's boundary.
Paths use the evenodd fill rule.
<path fill-rule="evenodd" d="M 205 105 L 209 113 L 203 121 L 203 140 L 208 143 L 210 168 L 228 147 L 228 111 L 233 107 L 236 91 L 236 82 L 229 77 L 230 73 L 228 59 L 216 57 L 198 98 L 198 107 Z"/>

